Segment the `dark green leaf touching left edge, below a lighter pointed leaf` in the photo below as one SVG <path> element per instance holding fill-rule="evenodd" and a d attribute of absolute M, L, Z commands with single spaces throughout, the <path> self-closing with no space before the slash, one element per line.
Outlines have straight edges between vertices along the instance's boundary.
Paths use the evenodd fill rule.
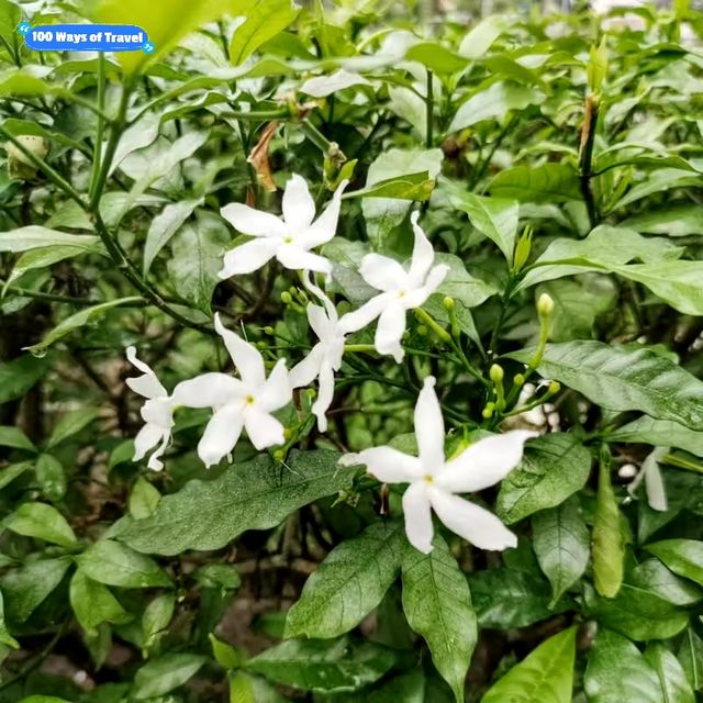
<path fill-rule="evenodd" d="M 8 620 L 14 623 L 25 622 L 62 582 L 68 567 L 68 557 L 43 559 L 31 561 L 0 577 Z"/>

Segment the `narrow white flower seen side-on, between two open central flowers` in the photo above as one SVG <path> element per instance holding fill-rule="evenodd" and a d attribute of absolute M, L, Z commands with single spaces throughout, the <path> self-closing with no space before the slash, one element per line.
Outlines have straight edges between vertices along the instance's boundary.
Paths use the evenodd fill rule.
<path fill-rule="evenodd" d="M 309 303 L 308 322 L 320 342 L 310 354 L 297 364 L 289 373 L 292 388 L 309 386 L 315 378 L 320 381 L 317 400 L 313 403 L 312 412 L 317 417 L 320 432 L 327 431 L 325 413 L 332 404 L 334 395 L 334 372 L 342 366 L 344 343 L 346 335 L 352 332 L 347 321 L 349 315 L 338 317 L 334 303 L 314 283 L 308 281 L 305 286 L 323 302 L 322 305 Z"/>

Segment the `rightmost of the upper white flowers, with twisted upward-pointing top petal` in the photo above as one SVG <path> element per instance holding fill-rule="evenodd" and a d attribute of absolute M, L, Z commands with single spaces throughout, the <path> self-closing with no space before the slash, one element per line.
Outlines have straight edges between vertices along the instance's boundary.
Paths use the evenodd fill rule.
<path fill-rule="evenodd" d="M 383 292 L 349 313 L 347 320 L 349 330 L 360 330 L 378 317 L 376 350 L 390 354 L 399 364 L 403 359 L 400 342 L 405 332 L 405 312 L 420 308 L 439 288 L 449 270 L 446 264 L 433 266 L 435 253 L 417 217 L 417 212 L 411 215 L 415 245 L 410 269 L 380 254 L 365 256 L 359 269 L 361 276 L 369 286 Z"/>

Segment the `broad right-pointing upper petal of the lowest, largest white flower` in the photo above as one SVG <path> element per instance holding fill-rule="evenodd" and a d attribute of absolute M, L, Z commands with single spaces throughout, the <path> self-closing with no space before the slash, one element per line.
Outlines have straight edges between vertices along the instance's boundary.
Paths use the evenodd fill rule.
<path fill-rule="evenodd" d="M 436 477 L 437 486 L 451 493 L 472 493 L 493 486 L 520 464 L 525 442 L 536 436 L 536 432 L 512 429 L 479 439 L 447 461 Z"/>

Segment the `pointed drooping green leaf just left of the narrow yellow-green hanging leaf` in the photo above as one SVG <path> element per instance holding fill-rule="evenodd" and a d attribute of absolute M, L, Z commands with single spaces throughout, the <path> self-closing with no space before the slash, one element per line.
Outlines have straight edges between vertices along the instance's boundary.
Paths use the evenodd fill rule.
<path fill-rule="evenodd" d="M 551 583 L 556 603 L 583 576 L 589 562 L 591 537 L 579 501 L 571 496 L 557 507 L 533 515 L 532 535 L 537 561 Z"/>

